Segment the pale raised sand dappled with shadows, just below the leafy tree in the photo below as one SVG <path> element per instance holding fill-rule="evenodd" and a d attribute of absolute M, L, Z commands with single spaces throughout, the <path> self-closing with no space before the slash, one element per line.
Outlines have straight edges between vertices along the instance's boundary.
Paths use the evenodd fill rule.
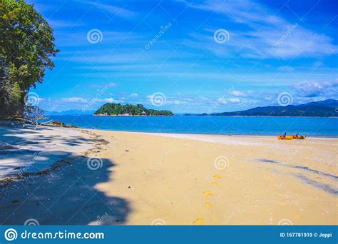
<path fill-rule="evenodd" d="M 22 124 L 0 126 L 0 178 L 44 171 L 58 160 L 71 158 L 74 151 L 92 148 L 96 142 L 68 128 L 33 128 L 23 128 Z"/>

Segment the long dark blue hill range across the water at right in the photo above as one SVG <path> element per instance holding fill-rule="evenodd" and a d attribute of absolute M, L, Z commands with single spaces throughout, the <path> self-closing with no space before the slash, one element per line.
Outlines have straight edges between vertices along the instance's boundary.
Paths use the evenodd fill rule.
<path fill-rule="evenodd" d="M 203 115 L 207 115 L 204 113 Z M 250 108 L 245 111 L 211 113 L 210 116 L 318 116 L 337 117 L 338 101 L 327 99 L 324 101 L 305 103 L 301 105 L 267 106 Z"/>

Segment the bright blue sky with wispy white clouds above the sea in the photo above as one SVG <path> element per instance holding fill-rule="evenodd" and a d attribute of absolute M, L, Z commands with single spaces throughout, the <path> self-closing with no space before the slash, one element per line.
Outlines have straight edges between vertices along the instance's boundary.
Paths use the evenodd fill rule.
<path fill-rule="evenodd" d="M 116 102 L 203 113 L 278 105 L 281 93 L 292 104 L 337 98 L 337 1 L 28 2 L 61 50 L 31 90 L 48 111 Z"/>

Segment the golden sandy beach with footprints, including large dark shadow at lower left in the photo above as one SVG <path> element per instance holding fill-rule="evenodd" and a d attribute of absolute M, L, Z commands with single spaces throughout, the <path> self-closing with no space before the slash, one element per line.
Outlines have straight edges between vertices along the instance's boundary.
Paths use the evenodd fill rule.
<path fill-rule="evenodd" d="M 90 132 L 101 143 L 1 188 L 1 224 L 338 224 L 337 138 Z"/>

